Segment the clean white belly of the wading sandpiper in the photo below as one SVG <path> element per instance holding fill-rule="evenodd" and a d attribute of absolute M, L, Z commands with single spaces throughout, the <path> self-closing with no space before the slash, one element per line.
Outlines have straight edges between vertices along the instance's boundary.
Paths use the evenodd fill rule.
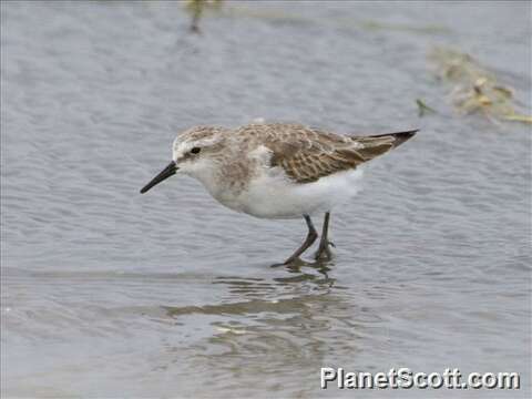
<path fill-rule="evenodd" d="M 336 173 L 313 183 L 294 183 L 282 175 L 263 174 L 238 195 L 217 200 L 227 207 L 262 218 L 297 218 L 351 198 L 360 188 L 360 170 Z"/>

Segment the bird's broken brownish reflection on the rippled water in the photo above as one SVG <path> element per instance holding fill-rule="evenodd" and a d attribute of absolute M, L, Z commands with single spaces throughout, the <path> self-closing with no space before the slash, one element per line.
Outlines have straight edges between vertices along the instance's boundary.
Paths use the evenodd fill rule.
<path fill-rule="evenodd" d="M 298 375 L 295 381 L 309 387 L 328 356 L 360 350 L 346 323 L 354 308 L 346 289 L 330 277 L 332 269 L 331 262 L 298 262 L 276 269 L 279 277 L 214 277 L 213 285 L 225 287 L 219 303 L 166 308 L 168 316 L 202 326 L 194 344 L 187 338 L 186 347 L 170 346 L 168 351 L 178 354 L 172 355 L 174 361 L 215 370 L 211 378 L 216 380 L 257 383 L 258 375 L 289 369 Z M 345 344 L 331 348 L 331 339 Z M 266 378 L 264 388 L 272 388 L 273 381 Z"/>

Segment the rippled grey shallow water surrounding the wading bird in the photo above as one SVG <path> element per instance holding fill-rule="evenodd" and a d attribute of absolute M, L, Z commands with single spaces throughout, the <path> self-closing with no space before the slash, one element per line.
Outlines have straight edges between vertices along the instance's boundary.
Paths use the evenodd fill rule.
<path fill-rule="evenodd" d="M 196 35 L 171 2 L 2 2 L 2 396 L 450 393 L 324 392 L 329 366 L 518 371 L 451 393 L 528 397 L 531 132 L 457 116 L 426 54 L 474 54 L 530 113 L 530 3 L 228 7 Z M 270 268 L 303 221 L 185 177 L 139 194 L 177 131 L 255 117 L 421 133 L 332 213 L 332 262 Z"/>

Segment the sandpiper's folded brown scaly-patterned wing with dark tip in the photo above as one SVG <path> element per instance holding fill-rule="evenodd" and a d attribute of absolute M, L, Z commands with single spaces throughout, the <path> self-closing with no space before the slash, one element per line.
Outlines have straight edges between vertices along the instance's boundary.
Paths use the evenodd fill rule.
<path fill-rule="evenodd" d="M 282 133 L 272 133 L 264 145 L 273 152 L 270 165 L 282 167 L 297 183 L 310 183 L 336 172 L 354 170 L 402 144 L 417 132 L 341 136 L 300 125 L 283 127 Z"/>

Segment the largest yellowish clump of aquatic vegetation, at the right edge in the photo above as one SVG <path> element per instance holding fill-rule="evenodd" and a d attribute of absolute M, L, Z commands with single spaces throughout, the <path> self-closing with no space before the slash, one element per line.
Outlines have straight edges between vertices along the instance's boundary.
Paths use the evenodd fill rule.
<path fill-rule="evenodd" d="M 436 75 L 452 83 L 452 102 L 460 114 L 481 113 L 490 120 L 532 123 L 532 116 L 516 111 L 514 90 L 499 83 L 471 55 L 446 48 L 434 48 L 429 60 Z"/>

